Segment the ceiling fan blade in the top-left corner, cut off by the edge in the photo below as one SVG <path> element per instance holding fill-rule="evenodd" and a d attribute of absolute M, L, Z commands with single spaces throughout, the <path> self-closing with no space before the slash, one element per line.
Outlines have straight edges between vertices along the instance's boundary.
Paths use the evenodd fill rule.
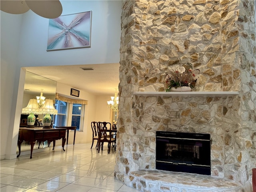
<path fill-rule="evenodd" d="M 3 12 L 11 13 L 11 14 L 22 14 L 26 13 L 29 10 L 26 2 L 23 0 L 1 0 L 0 1 L 0 9 Z"/>

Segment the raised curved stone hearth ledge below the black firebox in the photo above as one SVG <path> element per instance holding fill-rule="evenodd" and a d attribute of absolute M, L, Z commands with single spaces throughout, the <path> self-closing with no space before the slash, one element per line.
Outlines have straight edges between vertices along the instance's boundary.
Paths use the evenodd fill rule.
<path fill-rule="evenodd" d="M 241 192 L 240 184 L 211 176 L 168 172 L 159 170 L 140 170 L 131 172 L 134 188 L 141 191 L 197 191 L 200 192 Z"/>

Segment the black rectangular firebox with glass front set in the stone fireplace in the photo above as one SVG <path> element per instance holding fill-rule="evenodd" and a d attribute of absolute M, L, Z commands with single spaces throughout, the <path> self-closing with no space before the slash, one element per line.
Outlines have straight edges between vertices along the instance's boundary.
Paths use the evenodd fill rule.
<path fill-rule="evenodd" d="M 156 132 L 156 169 L 211 174 L 210 134 Z"/>

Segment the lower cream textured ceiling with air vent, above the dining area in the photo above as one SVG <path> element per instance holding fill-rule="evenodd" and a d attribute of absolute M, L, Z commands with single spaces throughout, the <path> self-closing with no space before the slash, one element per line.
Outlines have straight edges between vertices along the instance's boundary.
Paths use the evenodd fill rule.
<path fill-rule="evenodd" d="M 90 67 L 94 70 L 81 69 Z M 26 70 L 95 95 L 113 95 L 119 84 L 119 63 L 27 67 Z M 28 84 L 25 83 L 24 89 L 30 89 L 31 92 L 41 92 L 43 88 L 43 92 L 47 93 L 47 85 L 45 82 L 39 83 L 39 79 L 40 77 L 33 75 L 29 79 L 26 75 L 26 82 L 30 83 L 29 88 Z"/>

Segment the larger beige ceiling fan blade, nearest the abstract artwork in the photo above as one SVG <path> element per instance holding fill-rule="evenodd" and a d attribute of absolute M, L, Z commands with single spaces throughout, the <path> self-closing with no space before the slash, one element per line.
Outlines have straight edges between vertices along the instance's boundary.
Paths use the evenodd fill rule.
<path fill-rule="evenodd" d="M 26 0 L 26 4 L 33 12 L 44 18 L 54 19 L 62 14 L 59 0 Z"/>

